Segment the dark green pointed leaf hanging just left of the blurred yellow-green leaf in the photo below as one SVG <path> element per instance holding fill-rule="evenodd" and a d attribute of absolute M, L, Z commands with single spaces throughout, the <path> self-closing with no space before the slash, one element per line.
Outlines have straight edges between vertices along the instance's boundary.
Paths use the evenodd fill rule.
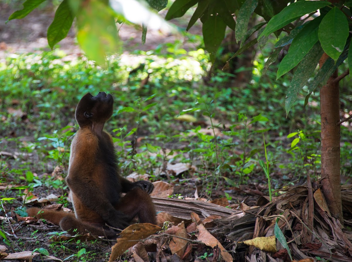
<path fill-rule="evenodd" d="M 47 38 L 51 49 L 67 36 L 72 26 L 73 19 L 74 16 L 71 13 L 68 0 L 63 0 L 56 9 L 54 20 L 48 27 Z"/>

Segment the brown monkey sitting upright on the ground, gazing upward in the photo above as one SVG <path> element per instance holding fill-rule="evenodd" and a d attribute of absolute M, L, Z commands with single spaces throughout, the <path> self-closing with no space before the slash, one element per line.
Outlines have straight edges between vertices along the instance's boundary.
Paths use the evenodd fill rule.
<path fill-rule="evenodd" d="M 149 196 L 153 184 L 149 181 L 132 183 L 119 175 L 112 138 L 103 130 L 112 112 L 113 98 L 105 92 L 97 96 L 88 93 L 77 105 L 75 118 L 80 129 L 71 143 L 66 178 L 75 213 L 32 207 L 27 209 L 30 216 L 59 222 L 62 230 L 69 234 L 90 232 L 108 238 L 118 233 L 109 226 L 124 229 L 136 216 L 140 223 L 156 223 L 155 208 Z M 121 197 L 122 192 L 126 193 L 124 197 Z"/>

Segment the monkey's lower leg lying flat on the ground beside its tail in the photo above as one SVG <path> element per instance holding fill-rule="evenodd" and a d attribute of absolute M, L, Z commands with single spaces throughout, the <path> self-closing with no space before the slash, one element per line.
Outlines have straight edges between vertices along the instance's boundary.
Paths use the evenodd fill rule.
<path fill-rule="evenodd" d="M 92 224 L 78 220 L 74 216 L 66 216 L 60 222 L 61 229 L 67 231 L 70 235 L 87 234 L 94 236 L 105 236 L 109 239 L 117 238 L 118 232 L 109 228 L 105 224 Z"/>

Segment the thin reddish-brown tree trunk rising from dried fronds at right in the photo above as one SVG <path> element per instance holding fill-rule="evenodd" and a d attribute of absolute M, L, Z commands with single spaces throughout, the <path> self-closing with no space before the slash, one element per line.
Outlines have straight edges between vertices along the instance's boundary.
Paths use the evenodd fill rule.
<path fill-rule="evenodd" d="M 328 56 L 324 53 L 319 66 Z M 320 89 L 321 115 L 321 184 L 329 210 L 343 223 L 340 185 L 340 98 L 337 70 Z"/>

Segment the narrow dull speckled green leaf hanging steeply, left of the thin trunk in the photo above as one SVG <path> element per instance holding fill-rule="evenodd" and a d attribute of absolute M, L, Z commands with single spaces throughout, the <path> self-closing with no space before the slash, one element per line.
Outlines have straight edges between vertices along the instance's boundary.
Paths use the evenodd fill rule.
<path fill-rule="evenodd" d="M 303 88 L 304 84 L 307 83 L 310 76 L 312 76 L 322 54 L 323 50 L 318 42 L 310 49 L 307 55 L 303 57 L 302 62 L 298 65 L 285 99 L 286 115 L 288 115 L 296 101 L 298 93 Z"/>

